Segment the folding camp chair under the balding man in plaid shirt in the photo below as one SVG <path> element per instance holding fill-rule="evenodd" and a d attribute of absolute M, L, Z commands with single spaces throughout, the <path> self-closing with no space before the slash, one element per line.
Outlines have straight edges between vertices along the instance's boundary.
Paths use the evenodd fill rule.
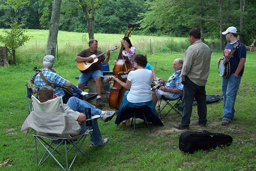
<path fill-rule="evenodd" d="M 182 116 L 182 111 L 183 111 L 183 108 L 182 108 L 182 104 L 181 104 L 181 99 L 182 99 L 182 96 L 176 98 L 176 99 L 171 99 L 171 98 L 167 98 L 165 96 L 161 96 L 161 100 L 160 102 L 158 102 L 158 114 L 160 116 L 160 118 L 164 118 L 172 109 L 180 114 Z M 161 108 L 161 103 L 162 101 L 165 101 L 166 104 L 164 105 L 164 107 Z M 171 104 L 171 102 L 174 101 L 176 102 L 174 105 Z M 171 109 L 169 109 L 168 112 L 164 113 L 163 116 L 162 116 L 162 112 L 164 112 L 163 110 L 167 107 L 171 107 Z"/>

